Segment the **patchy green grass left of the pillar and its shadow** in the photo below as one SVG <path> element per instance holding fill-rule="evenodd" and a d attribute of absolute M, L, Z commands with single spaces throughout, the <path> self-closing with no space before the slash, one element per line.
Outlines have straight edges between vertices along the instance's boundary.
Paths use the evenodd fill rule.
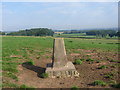
<path fill-rule="evenodd" d="M 5 72 L 3 77 L 17 80 L 17 66 L 23 62 L 33 65 L 34 60 L 31 56 L 42 56 L 47 48 L 52 48 L 53 39 L 51 37 L 12 37 L 2 38 L 2 70 Z M 36 52 L 36 51 L 38 52 Z M 42 55 L 41 54 L 42 51 Z M 40 54 L 39 54 L 40 53 Z M 14 56 L 14 57 L 13 57 Z M 5 87 L 16 87 L 10 81 L 4 82 Z"/>

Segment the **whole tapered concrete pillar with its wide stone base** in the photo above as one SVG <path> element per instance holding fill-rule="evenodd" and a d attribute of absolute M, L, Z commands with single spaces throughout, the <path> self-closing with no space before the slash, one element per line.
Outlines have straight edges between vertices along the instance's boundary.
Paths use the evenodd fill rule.
<path fill-rule="evenodd" d="M 55 38 L 53 47 L 52 64 L 48 64 L 46 73 L 49 77 L 74 77 L 79 76 L 72 62 L 67 60 L 64 39 Z"/>

